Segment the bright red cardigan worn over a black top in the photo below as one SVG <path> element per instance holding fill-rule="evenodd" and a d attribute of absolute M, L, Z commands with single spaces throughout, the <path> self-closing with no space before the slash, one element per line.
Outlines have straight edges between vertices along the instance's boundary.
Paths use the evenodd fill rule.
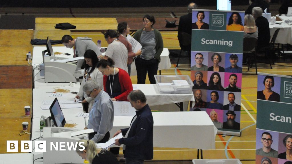
<path fill-rule="evenodd" d="M 121 95 L 114 97 L 117 101 L 129 101 L 127 99 L 128 94 L 133 90 L 133 85 L 129 74 L 119 68 L 119 82 L 121 85 Z M 106 90 L 107 76 L 103 75 L 103 89 Z"/>

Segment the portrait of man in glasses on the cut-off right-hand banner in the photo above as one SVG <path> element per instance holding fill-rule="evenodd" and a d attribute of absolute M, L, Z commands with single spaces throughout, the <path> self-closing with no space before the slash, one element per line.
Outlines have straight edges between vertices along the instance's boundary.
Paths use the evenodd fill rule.
<path fill-rule="evenodd" d="M 269 132 L 263 132 L 261 142 L 263 147 L 256 150 L 257 155 L 278 158 L 278 151 L 271 148 L 273 140 Z"/>

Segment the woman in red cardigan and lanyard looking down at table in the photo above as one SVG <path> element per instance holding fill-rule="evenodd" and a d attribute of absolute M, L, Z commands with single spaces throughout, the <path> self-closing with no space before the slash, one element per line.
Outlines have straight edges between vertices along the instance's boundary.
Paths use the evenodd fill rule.
<path fill-rule="evenodd" d="M 104 75 L 103 88 L 112 101 L 128 101 L 127 96 L 133 90 L 131 78 L 125 70 L 114 67 L 114 64 L 111 58 L 101 59 L 97 64 L 98 70 Z"/>

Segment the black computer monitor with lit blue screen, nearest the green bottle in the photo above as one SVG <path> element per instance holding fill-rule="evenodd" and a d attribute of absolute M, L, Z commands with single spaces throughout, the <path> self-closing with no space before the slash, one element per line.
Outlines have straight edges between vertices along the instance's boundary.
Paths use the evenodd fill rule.
<path fill-rule="evenodd" d="M 50 113 L 55 126 L 64 127 L 66 120 L 57 98 L 55 98 L 50 106 Z"/>

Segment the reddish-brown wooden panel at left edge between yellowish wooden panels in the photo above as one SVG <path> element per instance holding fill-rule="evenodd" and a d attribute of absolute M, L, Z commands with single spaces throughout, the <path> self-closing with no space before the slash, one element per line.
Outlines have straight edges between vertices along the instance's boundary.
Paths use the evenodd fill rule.
<path fill-rule="evenodd" d="M 0 66 L 2 88 L 32 88 L 32 66 Z"/>

